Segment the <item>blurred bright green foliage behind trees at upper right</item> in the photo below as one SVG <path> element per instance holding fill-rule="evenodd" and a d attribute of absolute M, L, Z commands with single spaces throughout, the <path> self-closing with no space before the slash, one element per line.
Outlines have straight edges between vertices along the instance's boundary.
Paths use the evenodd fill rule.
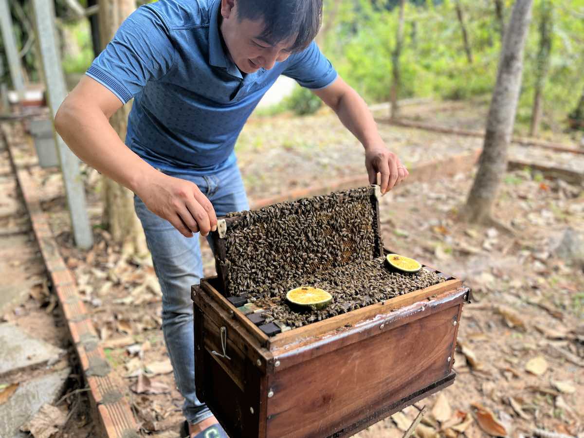
<path fill-rule="evenodd" d="M 395 47 L 398 9 L 393 0 L 334 0 L 341 4 L 329 23 L 323 50 L 367 102 L 390 99 L 391 54 Z M 333 0 L 325 0 L 324 20 Z M 404 47 L 400 59 L 402 88 L 398 98 L 468 99 L 492 92 L 502 46 L 492 1 L 461 0 L 473 56 L 469 64 L 452 0 L 408 1 Z M 384 5 L 387 7 L 380 7 Z M 505 1 L 508 20 L 512 0 Z M 550 58 L 542 77 L 541 18 L 550 19 Z M 584 92 L 584 0 L 534 0 L 533 18 L 524 54 L 523 86 L 517 111 L 519 124 L 529 123 L 534 88 L 544 87 L 544 121 L 565 123 Z M 580 110 L 584 112 L 584 108 Z M 580 114 L 574 116 L 580 117 Z M 584 117 L 584 114 L 582 114 Z"/>

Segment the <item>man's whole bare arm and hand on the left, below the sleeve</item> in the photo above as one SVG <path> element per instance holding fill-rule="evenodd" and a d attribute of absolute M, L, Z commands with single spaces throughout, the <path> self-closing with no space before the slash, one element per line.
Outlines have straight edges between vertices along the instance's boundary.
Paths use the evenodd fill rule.
<path fill-rule="evenodd" d="M 217 230 L 215 210 L 199 187 L 156 171 L 120 140 L 108 120 L 120 107 L 114 93 L 84 76 L 59 108 L 55 127 L 82 161 L 128 187 L 182 235 Z"/>

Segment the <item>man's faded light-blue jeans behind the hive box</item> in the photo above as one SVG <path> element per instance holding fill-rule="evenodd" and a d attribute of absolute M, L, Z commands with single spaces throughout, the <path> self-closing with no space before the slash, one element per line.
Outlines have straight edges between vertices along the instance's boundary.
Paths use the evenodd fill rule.
<path fill-rule="evenodd" d="M 211 201 L 217 216 L 248 210 L 249 204 L 237 164 L 215 175 L 169 174 L 192 181 Z M 176 385 L 185 397 L 183 413 L 191 424 L 210 417 L 207 405 L 194 391 L 193 302 L 190 287 L 203 277 L 199 234 L 184 237 L 171 223 L 152 213 L 135 196 L 134 207 L 144 228 L 154 270 L 162 289 L 162 331 L 174 369 Z M 200 376 L 199 376 L 200 378 Z"/>

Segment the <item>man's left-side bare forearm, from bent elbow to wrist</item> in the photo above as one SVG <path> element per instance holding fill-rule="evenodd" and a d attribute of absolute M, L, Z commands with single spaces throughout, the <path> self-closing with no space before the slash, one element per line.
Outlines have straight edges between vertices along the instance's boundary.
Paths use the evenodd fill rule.
<path fill-rule="evenodd" d="M 55 116 L 55 128 L 81 161 L 133 192 L 154 172 L 120 140 L 99 107 L 65 100 Z"/>

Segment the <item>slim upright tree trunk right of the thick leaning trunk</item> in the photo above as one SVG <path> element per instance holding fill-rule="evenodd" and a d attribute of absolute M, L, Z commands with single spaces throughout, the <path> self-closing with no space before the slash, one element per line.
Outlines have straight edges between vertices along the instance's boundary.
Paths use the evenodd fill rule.
<path fill-rule="evenodd" d="M 541 2 L 540 18 L 540 48 L 537 52 L 536 60 L 536 84 L 535 96 L 533 98 L 533 109 L 531 110 L 531 126 L 529 135 L 535 137 L 540 126 L 543 88 L 547 79 L 550 67 L 551 39 L 554 26 L 553 6 L 548 0 Z"/>

